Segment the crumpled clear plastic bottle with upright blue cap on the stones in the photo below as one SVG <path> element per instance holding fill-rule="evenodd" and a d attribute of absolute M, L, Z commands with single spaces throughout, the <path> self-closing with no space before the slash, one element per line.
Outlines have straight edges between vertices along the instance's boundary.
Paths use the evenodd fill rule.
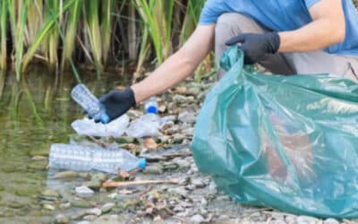
<path fill-rule="evenodd" d="M 158 103 L 156 98 L 149 98 L 144 103 L 146 114 L 132 121 L 125 133 L 128 136 L 141 138 L 158 136 L 160 117 L 158 116 Z"/>

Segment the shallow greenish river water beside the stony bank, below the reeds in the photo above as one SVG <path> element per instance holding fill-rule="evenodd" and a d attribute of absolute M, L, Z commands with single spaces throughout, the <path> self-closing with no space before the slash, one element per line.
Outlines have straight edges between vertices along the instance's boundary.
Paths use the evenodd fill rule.
<path fill-rule="evenodd" d="M 82 73 L 81 79 L 97 96 L 128 83 L 114 74 L 98 80 Z M 0 223 L 53 220 L 39 199 L 47 188 L 47 159 L 41 155 L 53 142 L 68 142 L 72 121 L 82 116 L 70 98 L 75 84 L 72 73 L 36 69 L 21 82 L 0 73 Z"/>

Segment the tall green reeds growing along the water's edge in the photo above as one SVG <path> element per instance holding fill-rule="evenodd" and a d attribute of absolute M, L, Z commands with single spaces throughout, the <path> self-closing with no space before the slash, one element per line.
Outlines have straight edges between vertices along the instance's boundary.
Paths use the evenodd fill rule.
<path fill-rule="evenodd" d="M 17 80 L 38 62 L 62 71 L 94 67 L 98 77 L 107 66 L 134 64 L 141 74 L 146 62 L 159 65 L 183 44 L 204 2 L 0 0 L 0 69 L 12 67 Z"/>

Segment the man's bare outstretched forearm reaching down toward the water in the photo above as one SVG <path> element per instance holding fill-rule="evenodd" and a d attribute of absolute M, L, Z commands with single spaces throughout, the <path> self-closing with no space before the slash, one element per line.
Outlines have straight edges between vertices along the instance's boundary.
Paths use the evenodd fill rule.
<path fill-rule="evenodd" d="M 166 59 L 146 79 L 132 85 L 136 102 L 173 87 L 192 74 L 214 44 L 215 25 L 198 26 L 173 56 Z"/>

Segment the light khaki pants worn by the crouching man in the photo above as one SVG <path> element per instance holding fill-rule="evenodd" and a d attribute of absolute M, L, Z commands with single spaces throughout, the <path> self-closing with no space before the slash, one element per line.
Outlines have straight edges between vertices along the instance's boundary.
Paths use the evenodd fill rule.
<path fill-rule="evenodd" d="M 224 13 L 218 20 L 215 31 L 215 52 L 217 60 L 226 51 L 226 40 L 240 33 L 263 33 L 268 30 L 257 22 L 239 13 Z M 271 73 L 277 74 L 314 74 L 333 73 L 358 82 L 358 56 L 331 55 L 324 51 L 307 53 L 277 53 L 268 55 L 260 61 Z M 218 78 L 225 72 L 220 69 Z"/>

